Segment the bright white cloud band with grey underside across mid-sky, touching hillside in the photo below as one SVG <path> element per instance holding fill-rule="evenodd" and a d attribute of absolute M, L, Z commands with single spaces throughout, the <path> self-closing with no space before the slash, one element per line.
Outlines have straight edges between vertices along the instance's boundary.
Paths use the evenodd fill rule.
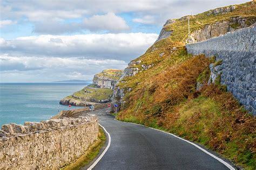
<path fill-rule="evenodd" d="M 118 33 L 30 36 L 0 39 L 0 53 L 18 56 L 66 56 L 130 61 L 142 55 L 158 34 Z"/>

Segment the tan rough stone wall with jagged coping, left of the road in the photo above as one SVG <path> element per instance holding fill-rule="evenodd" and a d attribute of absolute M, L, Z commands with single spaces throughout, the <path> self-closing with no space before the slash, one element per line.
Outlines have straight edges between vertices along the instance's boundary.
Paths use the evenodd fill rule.
<path fill-rule="evenodd" d="M 3 125 L 0 169 L 58 169 L 84 154 L 97 136 L 92 115 Z"/>

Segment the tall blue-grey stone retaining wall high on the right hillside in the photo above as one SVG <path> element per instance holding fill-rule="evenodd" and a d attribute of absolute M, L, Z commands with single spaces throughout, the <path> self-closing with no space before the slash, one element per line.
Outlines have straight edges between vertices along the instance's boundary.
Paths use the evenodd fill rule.
<path fill-rule="evenodd" d="M 256 77 L 255 77 L 255 34 L 256 27 L 251 26 L 223 36 L 211 38 L 195 44 L 187 44 L 187 52 L 193 55 L 214 55 L 221 60 L 215 67 L 220 73 L 221 84 L 256 115 Z"/>

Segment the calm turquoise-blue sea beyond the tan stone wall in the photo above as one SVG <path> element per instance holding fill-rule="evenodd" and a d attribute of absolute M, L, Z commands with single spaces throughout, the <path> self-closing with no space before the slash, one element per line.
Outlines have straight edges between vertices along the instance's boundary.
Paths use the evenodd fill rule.
<path fill-rule="evenodd" d="M 58 114 L 59 100 L 87 84 L 0 83 L 0 126 L 39 122 Z M 78 107 L 71 107 L 75 109 Z M 60 105 L 60 110 L 70 109 Z"/>

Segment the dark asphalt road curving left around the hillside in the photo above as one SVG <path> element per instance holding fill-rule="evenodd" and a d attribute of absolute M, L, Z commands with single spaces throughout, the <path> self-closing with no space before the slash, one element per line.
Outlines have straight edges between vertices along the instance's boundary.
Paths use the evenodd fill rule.
<path fill-rule="evenodd" d="M 93 169 L 230 169 L 171 134 L 118 122 L 107 108 L 95 111 L 111 136 L 109 149 Z"/>

